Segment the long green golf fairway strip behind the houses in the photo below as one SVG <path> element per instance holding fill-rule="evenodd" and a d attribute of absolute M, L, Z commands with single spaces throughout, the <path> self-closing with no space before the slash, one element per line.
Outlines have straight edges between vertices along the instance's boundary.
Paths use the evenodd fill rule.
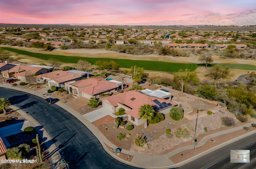
<path fill-rule="evenodd" d="M 40 54 L 34 52 L 28 52 L 24 50 L 18 50 L 14 48 L 1 47 L 3 50 L 9 50 L 17 54 L 32 56 L 35 58 L 40 58 L 48 60 L 50 58 L 57 58 L 61 62 L 65 63 L 77 63 L 80 59 L 85 59 L 91 64 L 95 64 L 97 60 L 114 60 L 120 65 L 121 68 L 130 68 L 131 66 L 137 65 L 138 67 L 144 68 L 145 70 L 155 70 L 162 72 L 178 72 L 180 69 L 190 69 L 196 70 L 204 64 L 180 64 L 180 63 L 169 63 L 169 62 L 158 62 L 158 61 L 148 61 L 148 60 L 128 60 L 128 59 L 108 59 L 108 58 L 84 58 L 78 56 L 62 56 L 62 55 L 50 55 L 50 54 Z M 230 68 L 242 69 L 242 70 L 256 70 L 256 66 L 252 65 L 242 65 L 242 64 L 221 64 L 223 67 L 229 66 Z M 214 66 L 214 64 L 212 64 Z"/>

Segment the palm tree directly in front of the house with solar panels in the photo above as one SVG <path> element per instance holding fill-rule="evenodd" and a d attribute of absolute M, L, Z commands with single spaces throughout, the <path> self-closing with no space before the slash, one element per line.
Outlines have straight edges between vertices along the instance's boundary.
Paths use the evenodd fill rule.
<path fill-rule="evenodd" d="M 152 105 L 144 104 L 139 109 L 140 112 L 140 118 L 145 120 L 145 128 L 148 128 L 148 120 L 151 120 L 154 118 L 155 110 L 152 107 Z"/>

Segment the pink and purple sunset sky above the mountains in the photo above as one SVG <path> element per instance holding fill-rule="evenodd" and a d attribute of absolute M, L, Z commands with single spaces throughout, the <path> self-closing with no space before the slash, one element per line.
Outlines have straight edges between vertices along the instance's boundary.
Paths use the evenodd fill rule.
<path fill-rule="evenodd" d="M 1 0 L 0 23 L 98 24 L 184 20 L 255 9 L 255 0 Z"/>

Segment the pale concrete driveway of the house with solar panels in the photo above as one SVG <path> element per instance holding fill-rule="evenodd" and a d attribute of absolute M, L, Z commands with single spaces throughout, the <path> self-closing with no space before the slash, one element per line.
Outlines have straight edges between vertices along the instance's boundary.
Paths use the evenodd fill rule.
<path fill-rule="evenodd" d="M 101 107 L 99 109 L 96 109 L 94 111 L 91 111 L 90 113 L 86 113 L 84 114 L 83 116 L 88 120 L 90 121 L 91 123 L 98 120 L 98 119 L 101 119 L 102 117 L 105 117 L 107 115 L 111 115 L 112 117 L 116 117 L 114 115 L 112 115 L 111 111 L 105 107 Z"/>

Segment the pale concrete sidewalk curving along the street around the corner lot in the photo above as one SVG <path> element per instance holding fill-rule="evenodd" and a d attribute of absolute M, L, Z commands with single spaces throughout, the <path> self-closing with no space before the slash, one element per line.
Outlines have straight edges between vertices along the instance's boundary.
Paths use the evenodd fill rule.
<path fill-rule="evenodd" d="M 5 86 L 2 86 L 2 87 L 5 87 Z M 6 87 L 7 88 L 11 88 L 11 89 L 16 89 L 16 88 L 14 88 L 12 86 L 9 87 L 9 86 L 6 85 Z M 45 93 L 45 90 L 46 91 L 48 90 L 48 89 L 44 89 L 42 91 L 26 91 L 26 90 L 20 89 L 20 88 L 17 88 L 17 89 L 21 90 L 21 91 L 25 91 L 25 92 L 31 93 L 31 94 L 38 95 L 40 97 L 43 97 L 42 94 Z M 102 144 L 103 148 L 105 149 L 105 151 L 108 152 L 112 157 L 114 157 L 115 159 L 118 159 L 119 161 L 121 161 L 123 163 L 126 163 L 128 165 L 132 165 L 132 166 L 135 166 L 135 167 L 141 167 L 141 168 L 147 168 L 147 169 L 156 169 L 156 168 L 158 168 L 158 169 L 167 169 L 167 168 L 179 167 L 181 165 L 189 163 L 190 161 L 193 161 L 194 159 L 202 157 L 203 155 L 205 155 L 207 153 L 210 153 L 211 151 L 214 151 L 214 150 L 216 150 L 216 149 L 218 149 L 220 147 L 223 147 L 223 146 L 225 146 L 225 145 L 227 145 L 229 143 L 232 143 L 232 142 L 234 142 L 234 141 L 236 141 L 238 139 L 241 139 L 242 137 L 246 137 L 248 135 L 256 133 L 256 130 L 253 130 L 251 132 L 248 132 L 248 133 L 246 133 L 244 135 L 241 135 L 239 137 L 236 137 L 234 139 L 226 141 L 226 142 L 224 142 L 224 143 L 222 143 L 220 145 L 212 147 L 211 149 L 208 149 L 208 150 L 206 150 L 206 151 L 204 151 L 202 153 L 194 155 L 193 157 L 191 157 L 189 159 L 186 159 L 186 160 L 184 160 L 184 161 L 182 161 L 180 163 L 176 163 L 176 164 L 174 164 L 169 159 L 169 157 L 172 157 L 173 155 L 175 155 L 177 153 L 180 153 L 180 152 L 182 152 L 182 151 L 184 151 L 186 149 L 194 149 L 194 145 L 180 147 L 180 148 L 175 149 L 174 151 L 171 151 L 171 152 L 169 152 L 169 153 L 167 153 L 165 155 L 143 155 L 143 154 L 134 153 L 132 151 L 128 151 L 128 150 L 122 149 L 122 153 L 125 153 L 127 155 L 132 155 L 133 156 L 132 161 L 128 162 L 128 161 L 126 161 L 124 159 L 119 158 L 117 155 L 114 155 L 114 153 L 112 151 L 110 151 L 108 149 L 108 147 L 106 147 L 106 145 L 108 145 L 112 149 L 118 148 L 116 145 L 114 145 L 108 139 L 106 139 L 106 137 L 101 132 L 99 132 L 97 127 L 92 125 L 92 123 L 88 119 L 86 119 L 80 113 L 76 112 L 74 109 L 68 107 L 66 104 L 61 103 L 60 101 L 58 101 L 56 104 L 59 105 L 60 107 L 64 108 L 64 109 L 66 109 L 68 112 L 70 112 L 72 115 L 74 115 L 77 119 L 79 119 L 82 123 L 84 123 L 84 125 L 86 125 L 86 127 L 88 127 L 88 129 L 90 129 L 90 131 L 92 131 L 92 133 L 98 138 L 98 140 L 101 142 L 101 144 Z M 253 121 L 252 123 L 256 123 L 256 121 Z M 248 124 L 245 124 L 245 125 L 242 125 L 242 126 L 239 126 L 239 127 L 234 127 L 232 129 L 228 129 L 228 130 L 225 130 L 225 131 L 220 131 L 218 133 L 207 135 L 206 137 L 202 138 L 198 142 L 198 145 L 196 147 L 201 147 L 210 138 L 213 138 L 213 137 L 216 137 L 216 136 L 219 136 L 219 135 L 224 135 L 226 133 L 230 133 L 230 132 L 233 132 L 233 131 L 238 131 L 240 129 L 243 129 L 243 127 L 245 127 L 245 126 L 248 127 L 250 125 L 251 125 L 251 123 L 248 123 Z M 46 132 L 44 132 L 44 133 L 46 133 Z M 46 134 L 48 134 L 48 133 L 46 133 Z M 55 144 L 53 144 L 53 145 L 55 145 Z M 55 161 L 56 160 L 57 159 L 55 159 Z"/>

